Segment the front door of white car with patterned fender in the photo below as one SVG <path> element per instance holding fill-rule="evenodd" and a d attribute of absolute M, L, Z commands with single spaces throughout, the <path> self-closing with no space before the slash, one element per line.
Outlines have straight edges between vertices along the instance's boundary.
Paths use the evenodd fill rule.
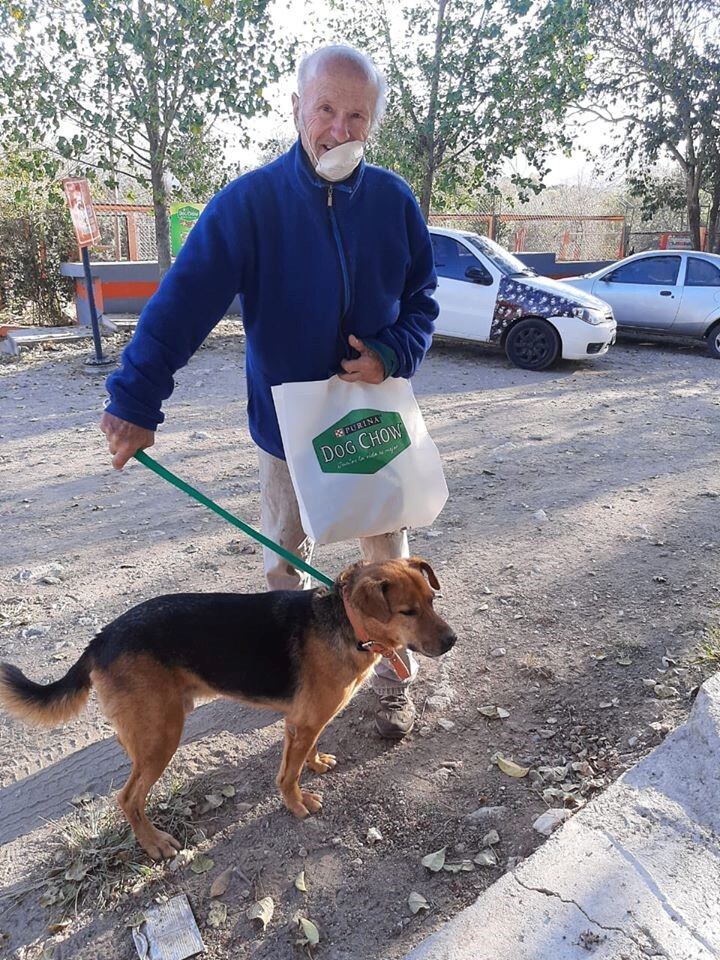
<path fill-rule="evenodd" d="M 500 272 L 454 237 L 430 236 L 440 304 L 435 329 L 448 337 L 489 340 Z"/>

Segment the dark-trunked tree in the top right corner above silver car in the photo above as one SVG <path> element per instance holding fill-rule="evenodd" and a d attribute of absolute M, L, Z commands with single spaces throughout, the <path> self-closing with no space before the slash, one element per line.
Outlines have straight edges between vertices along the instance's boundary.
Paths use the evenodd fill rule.
<path fill-rule="evenodd" d="M 696 249 L 703 187 L 712 198 L 711 237 L 720 208 L 718 16 L 720 0 L 595 0 L 590 18 L 582 109 L 617 125 L 618 156 L 636 179 L 658 160 L 677 164 Z"/>

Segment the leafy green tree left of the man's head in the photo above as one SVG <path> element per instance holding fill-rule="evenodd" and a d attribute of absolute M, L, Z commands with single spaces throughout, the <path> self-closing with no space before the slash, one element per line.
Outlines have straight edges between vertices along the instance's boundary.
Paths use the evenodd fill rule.
<path fill-rule="evenodd" d="M 280 75 L 268 0 L 11 0 L 0 9 L 0 133 L 152 188 L 170 266 L 168 171 L 220 116 L 267 112 Z"/>

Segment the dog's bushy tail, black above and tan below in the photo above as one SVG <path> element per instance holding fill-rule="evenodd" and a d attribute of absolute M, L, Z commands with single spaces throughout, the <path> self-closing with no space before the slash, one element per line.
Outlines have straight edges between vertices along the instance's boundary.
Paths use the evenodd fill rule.
<path fill-rule="evenodd" d="M 54 727 L 80 713 L 92 686 L 91 656 L 86 650 L 64 677 L 54 683 L 29 680 L 18 667 L 0 663 L 0 706 L 18 720 Z"/>

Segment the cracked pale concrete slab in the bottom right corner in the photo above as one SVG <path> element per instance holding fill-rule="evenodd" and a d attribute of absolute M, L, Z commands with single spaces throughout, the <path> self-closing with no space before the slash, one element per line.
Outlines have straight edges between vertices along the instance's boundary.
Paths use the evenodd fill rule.
<path fill-rule="evenodd" d="M 649 957 L 720 957 L 720 674 L 683 726 L 406 960 Z"/>

